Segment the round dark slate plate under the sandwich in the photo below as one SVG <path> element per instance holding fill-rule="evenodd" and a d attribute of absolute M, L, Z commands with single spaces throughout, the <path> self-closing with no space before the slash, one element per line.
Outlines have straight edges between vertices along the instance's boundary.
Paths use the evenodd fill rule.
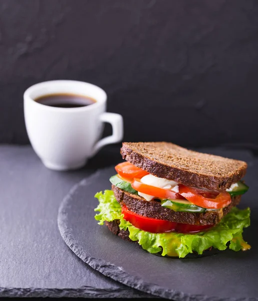
<path fill-rule="evenodd" d="M 61 235 L 77 256 L 106 276 L 164 298 L 258 300 L 258 225 L 254 218 L 257 203 L 251 200 L 251 189 L 240 206 L 244 208 L 248 204 L 252 207 L 252 225 L 244 230 L 251 250 L 225 250 L 201 258 L 167 258 L 149 254 L 137 243 L 124 241 L 106 226 L 97 224 L 94 208 L 98 201 L 94 195 L 110 189 L 109 177 L 113 174 L 114 167 L 83 180 L 60 206 L 58 226 Z M 253 178 L 249 180 L 254 182 Z"/>

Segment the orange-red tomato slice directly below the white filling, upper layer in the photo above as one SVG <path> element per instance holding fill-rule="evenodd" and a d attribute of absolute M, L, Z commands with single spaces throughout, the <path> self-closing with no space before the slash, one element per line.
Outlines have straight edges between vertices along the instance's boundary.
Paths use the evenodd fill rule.
<path fill-rule="evenodd" d="M 163 189 L 151 185 L 147 185 L 141 182 L 139 179 L 134 179 L 132 182 L 132 188 L 142 192 L 146 193 L 150 196 L 154 196 L 157 198 L 163 198 L 163 199 L 184 199 L 180 194 L 173 192 L 168 189 Z"/>

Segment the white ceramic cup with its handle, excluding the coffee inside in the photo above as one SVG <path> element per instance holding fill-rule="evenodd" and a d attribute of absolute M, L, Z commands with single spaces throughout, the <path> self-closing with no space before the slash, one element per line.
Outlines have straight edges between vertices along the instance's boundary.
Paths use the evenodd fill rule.
<path fill-rule="evenodd" d="M 62 108 L 35 101 L 56 93 L 88 96 L 95 103 L 83 107 Z M 47 168 L 66 171 L 84 166 L 104 145 L 123 138 L 123 118 L 106 112 L 107 94 L 100 87 L 74 80 L 38 83 L 24 93 L 26 129 L 31 144 Z M 112 125 L 112 135 L 100 137 L 104 122 Z"/>

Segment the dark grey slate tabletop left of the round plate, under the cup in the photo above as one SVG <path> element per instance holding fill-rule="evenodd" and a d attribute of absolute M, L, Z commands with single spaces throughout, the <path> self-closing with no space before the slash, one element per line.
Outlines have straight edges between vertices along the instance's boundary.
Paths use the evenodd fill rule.
<path fill-rule="evenodd" d="M 59 205 L 71 187 L 119 161 L 119 146 L 113 145 L 81 170 L 55 172 L 43 166 L 31 146 L 0 146 L 0 297 L 149 296 L 85 264 L 57 226 Z"/>

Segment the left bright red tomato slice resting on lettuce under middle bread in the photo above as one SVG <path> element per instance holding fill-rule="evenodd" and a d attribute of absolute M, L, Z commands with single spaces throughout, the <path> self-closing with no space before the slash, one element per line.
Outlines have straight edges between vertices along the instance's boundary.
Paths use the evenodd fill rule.
<path fill-rule="evenodd" d="M 128 210 L 125 206 L 122 207 L 124 219 L 130 222 L 138 229 L 151 233 L 162 233 L 175 230 L 177 223 L 166 220 L 145 217 Z"/>

